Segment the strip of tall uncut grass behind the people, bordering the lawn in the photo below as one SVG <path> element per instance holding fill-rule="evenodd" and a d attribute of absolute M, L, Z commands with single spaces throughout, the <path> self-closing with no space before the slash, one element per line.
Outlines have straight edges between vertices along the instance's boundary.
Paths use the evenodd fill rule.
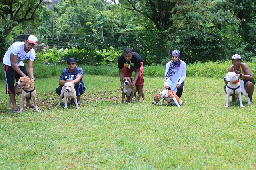
<path fill-rule="evenodd" d="M 27 62 L 25 65 L 27 66 Z M 223 62 L 199 62 L 194 64 L 187 64 L 186 73 L 187 77 L 207 77 L 207 78 L 218 78 L 223 81 L 223 77 L 226 75 L 228 67 L 232 64 L 232 61 Z M 252 70 L 252 74 L 256 75 L 256 66 L 252 62 L 246 63 Z M 112 66 L 108 65 L 87 65 L 77 64 L 77 66 L 83 69 L 84 75 L 101 75 L 109 77 L 118 77 L 117 64 Z M 35 78 L 46 78 L 46 77 L 59 77 L 62 70 L 66 68 L 66 62 L 58 64 L 41 64 L 36 61 L 34 63 L 34 76 Z M 0 64 L 0 70 L 4 70 L 3 64 Z M 150 66 L 144 66 L 143 75 L 144 77 L 155 77 L 162 78 L 164 80 L 165 66 L 152 64 Z M 0 71 L 0 80 L 4 80 L 4 72 Z M 224 81 L 223 81 L 224 83 Z"/>

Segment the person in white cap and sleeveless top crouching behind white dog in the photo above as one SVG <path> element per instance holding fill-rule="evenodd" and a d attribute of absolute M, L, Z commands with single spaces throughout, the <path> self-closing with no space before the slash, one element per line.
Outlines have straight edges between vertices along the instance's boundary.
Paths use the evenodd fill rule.
<path fill-rule="evenodd" d="M 245 63 L 241 62 L 241 56 L 239 54 L 233 55 L 231 60 L 233 65 L 228 68 L 228 72 L 235 72 L 239 79 L 244 81 L 245 90 L 252 103 L 252 95 L 255 84 L 252 71 Z M 224 90 L 226 92 L 226 86 L 224 87 Z M 236 97 L 234 94 L 231 94 L 230 96 L 232 96 L 232 100 L 230 102 L 234 102 Z"/>

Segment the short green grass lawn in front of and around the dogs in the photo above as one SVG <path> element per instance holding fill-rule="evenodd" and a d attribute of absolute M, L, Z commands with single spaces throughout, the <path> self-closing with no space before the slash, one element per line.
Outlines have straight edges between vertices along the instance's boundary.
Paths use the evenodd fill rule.
<path fill-rule="evenodd" d="M 80 109 L 56 106 L 58 79 L 37 79 L 42 112 L 22 114 L 0 80 L 0 169 L 256 169 L 255 95 L 224 108 L 223 78 L 187 77 L 178 108 L 152 104 L 162 77 L 144 78 L 144 103 L 122 104 L 119 77 L 84 75 Z"/>

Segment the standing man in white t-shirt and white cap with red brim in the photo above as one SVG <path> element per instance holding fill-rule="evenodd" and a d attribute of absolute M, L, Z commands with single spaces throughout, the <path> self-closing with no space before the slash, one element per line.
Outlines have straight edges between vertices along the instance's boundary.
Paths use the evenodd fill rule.
<path fill-rule="evenodd" d="M 9 94 L 10 100 L 13 106 L 13 113 L 18 113 L 19 109 L 15 100 L 14 93 L 14 78 L 16 82 L 20 77 L 30 76 L 31 86 L 33 86 L 35 78 L 33 73 L 33 62 L 36 57 L 36 53 L 33 49 L 34 45 L 37 45 L 37 38 L 34 35 L 27 37 L 25 42 L 15 42 L 6 51 L 3 64 L 4 64 L 4 74 L 6 80 L 6 94 Z M 23 60 L 28 59 L 28 72 L 24 66 Z M 34 105 L 31 104 L 29 99 L 27 100 L 27 106 L 32 108 Z"/>

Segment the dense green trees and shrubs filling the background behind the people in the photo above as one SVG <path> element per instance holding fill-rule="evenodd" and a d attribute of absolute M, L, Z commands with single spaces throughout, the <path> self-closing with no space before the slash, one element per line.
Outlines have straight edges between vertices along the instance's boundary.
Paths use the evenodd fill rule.
<path fill-rule="evenodd" d="M 71 56 L 81 64 L 111 64 L 125 47 L 142 55 L 146 65 L 165 64 L 174 49 L 186 63 L 222 61 L 235 53 L 244 61 L 256 57 L 256 0 L 55 2 L 0 1 L 1 54 L 8 40 L 34 34 L 49 48 L 37 54 L 42 63 Z"/>

